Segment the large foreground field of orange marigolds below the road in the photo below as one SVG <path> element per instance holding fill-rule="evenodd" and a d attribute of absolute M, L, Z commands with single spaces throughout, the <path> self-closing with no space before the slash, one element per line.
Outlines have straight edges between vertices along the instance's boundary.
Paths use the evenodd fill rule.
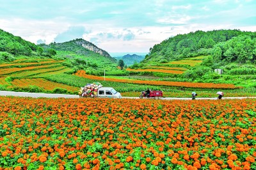
<path fill-rule="evenodd" d="M 256 169 L 256 100 L 0 97 L 0 169 Z"/>

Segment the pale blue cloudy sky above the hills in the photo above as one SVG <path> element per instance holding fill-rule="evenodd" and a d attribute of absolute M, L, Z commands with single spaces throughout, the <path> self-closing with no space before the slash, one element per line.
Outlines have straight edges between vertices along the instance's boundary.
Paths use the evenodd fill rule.
<path fill-rule="evenodd" d="M 145 52 L 172 36 L 256 31 L 255 0 L 0 0 L 0 29 L 33 43 L 83 38 L 107 52 Z"/>

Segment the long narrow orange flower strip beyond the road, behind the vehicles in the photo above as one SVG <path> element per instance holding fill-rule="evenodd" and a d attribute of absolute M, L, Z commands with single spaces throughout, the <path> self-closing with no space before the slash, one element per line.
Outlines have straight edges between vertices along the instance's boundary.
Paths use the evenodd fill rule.
<path fill-rule="evenodd" d="M 93 81 L 104 81 L 104 77 L 96 75 L 87 75 L 84 70 L 78 70 L 74 75 L 92 79 Z M 106 78 L 106 81 L 113 82 L 128 82 L 133 84 L 148 84 L 156 86 L 172 86 L 172 87 L 184 87 L 184 88 L 203 88 L 203 89 L 237 89 L 241 87 L 234 86 L 234 84 L 214 84 L 214 83 L 200 83 L 200 82 L 171 82 L 171 81 L 139 81 L 130 79 L 115 79 Z"/>

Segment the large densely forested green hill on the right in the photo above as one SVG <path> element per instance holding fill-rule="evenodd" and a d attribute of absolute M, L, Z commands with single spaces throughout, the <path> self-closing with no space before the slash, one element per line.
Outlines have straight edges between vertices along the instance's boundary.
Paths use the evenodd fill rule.
<path fill-rule="evenodd" d="M 154 45 L 142 63 L 169 61 L 211 55 L 214 63 L 255 62 L 256 33 L 239 30 L 196 31 L 177 35 Z"/>

